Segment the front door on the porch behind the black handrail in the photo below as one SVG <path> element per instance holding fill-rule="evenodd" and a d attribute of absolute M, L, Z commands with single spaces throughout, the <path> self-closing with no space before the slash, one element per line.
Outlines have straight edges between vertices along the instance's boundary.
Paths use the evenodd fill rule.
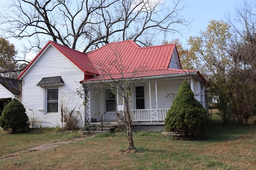
<path fill-rule="evenodd" d="M 116 120 L 116 94 L 109 89 L 105 91 L 105 111 L 105 120 Z"/>

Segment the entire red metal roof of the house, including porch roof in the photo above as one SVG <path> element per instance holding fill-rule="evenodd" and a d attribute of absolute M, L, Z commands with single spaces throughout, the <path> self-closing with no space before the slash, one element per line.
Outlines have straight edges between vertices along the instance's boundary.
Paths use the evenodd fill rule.
<path fill-rule="evenodd" d="M 54 46 L 72 63 L 76 64 L 85 75 L 88 75 L 82 82 L 191 72 L 189 70 L 168 68 L 174 50 L 176 50 L 175 44 L 140 47 L 134 41 L 126 40 L 109 43 L 85 54 L 56 42 L 48 41 L 44 48 L 18 76 L 18 79 L 22 77 L 48 45 Z M 198 71 L 196 72 L 199 74 Z"/>

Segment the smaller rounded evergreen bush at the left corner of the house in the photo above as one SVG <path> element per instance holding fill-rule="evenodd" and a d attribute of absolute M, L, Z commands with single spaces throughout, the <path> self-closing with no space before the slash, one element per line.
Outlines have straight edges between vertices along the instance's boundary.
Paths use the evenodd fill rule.
<path fill-rule="evenodd" d="M 12 99 L 10 103 L 4 106 L 0 116 L 0 125 L 4 131 L 12 129 L 12 133 L 27 129 L 30 123 L 23 104 L 16 99 Z"/>

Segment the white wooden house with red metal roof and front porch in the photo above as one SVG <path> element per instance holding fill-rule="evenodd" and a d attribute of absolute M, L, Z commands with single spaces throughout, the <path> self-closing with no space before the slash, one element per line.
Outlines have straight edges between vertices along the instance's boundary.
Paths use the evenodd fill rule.
<path fill-rule="evenodd" d="M 189 75 L 189 76 L 188 76 Z M 122 97 L 109 90 L 130 82 L 133 123 L 163 123 L 184 80 L 208 109 L 206 80 L 198 71 L 182 70 L 175 44 L 140 47 L 131 40 L 109 43 L 84 54 L 49 41 L 20 74 L 22 103 L 34 126 L 61 126 L 61 108 L 75 109 L 86 121 L 116 120 Z"/>

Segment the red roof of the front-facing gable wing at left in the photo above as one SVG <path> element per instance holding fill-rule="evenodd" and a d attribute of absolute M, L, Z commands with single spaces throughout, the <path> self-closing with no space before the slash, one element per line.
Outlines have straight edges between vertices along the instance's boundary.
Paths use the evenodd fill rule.
<path fill-rule="evenodd" d="M 95 75 L 98 74 L 98 71 L 95 69 L 92 61 L 90 61 L 87 54 L 82 53 L 80 51 L 76 51 L 59 43 L 48 41 L 46 45 L 42 48 L 42 50 L 36 55 L 36 57 L 28 64 L 28 66 L 22 71 L 22 73 L 18 76 L 18 79 L 22 78 L 22 76 L 26 73 L 26 71 L 32 66 L 32 64 L 40 57 L 40 55 L 44 52 L 45 49 L 49 45 L 55 47 L 58 51 L 60 51 L 64 56 L 66 56 L 72 63 L 74 63 L 78 68 L 80 68 L 85 74 Z"/>

